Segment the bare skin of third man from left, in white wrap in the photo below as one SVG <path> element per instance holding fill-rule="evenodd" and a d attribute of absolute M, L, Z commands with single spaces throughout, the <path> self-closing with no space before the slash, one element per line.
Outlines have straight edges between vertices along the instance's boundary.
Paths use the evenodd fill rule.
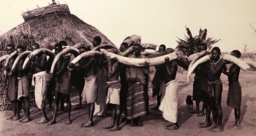
<path fill-rule="evenodd" d="M 37 45 L 32 45 L 32 51 L 35 51 L 39 49 L 39 46 Z M 46 71 L 46 64 L 47 64 L 47 57 L 46 55 L 39 55 L 39 56 L 32 56 L 32 55 L 29 55 L 28 56 L 31 60 L 31 65 L 32 65 L 32 73 L 35 74 L 35 73 L 39 73 L 39 72 L 42 72 L 42 71 Z M 52 97 L 52 96 L 50 96 Z M 52 105 L 51 105 L 51 98 L 49 99 L 49 104 L 50 104 L 50 108 L 52 108 Z M 46 113 L 45 113 L 45 105 L 46 103 L 44 101 L 42 101 L 42 104 L 41 104 L 41 119 L 39 121 L 37 121 L 37 124 L 45 124 L 48 122 L 48 118 L 46 116 Z"/>

